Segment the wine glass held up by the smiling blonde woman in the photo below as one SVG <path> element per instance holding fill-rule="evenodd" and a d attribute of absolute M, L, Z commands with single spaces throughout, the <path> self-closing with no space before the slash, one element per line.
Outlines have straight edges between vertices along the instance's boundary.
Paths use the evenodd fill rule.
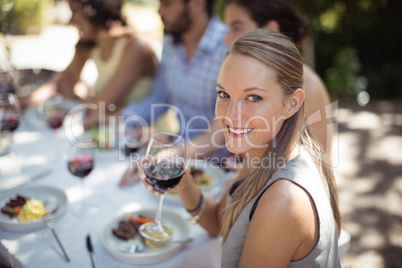
<path fill-rule="evenodd" d="M 146 156 L 141 160 L 146 180 L 160 192 L 155 222 L 141 225 L 140 234 L 149 240 L 165 242 L 172 238 L 173 229 L 161 221 L 164 193 L 179 184 L 185 170 L 186 146 L 183 138 L 170 133 L 152 136 Z"/>

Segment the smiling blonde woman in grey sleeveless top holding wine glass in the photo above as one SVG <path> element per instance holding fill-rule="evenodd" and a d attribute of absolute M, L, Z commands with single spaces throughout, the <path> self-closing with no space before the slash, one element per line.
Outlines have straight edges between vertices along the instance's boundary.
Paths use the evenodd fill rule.
<path fill-rule="evenodd" d="M 225 56 L 217 95 L 226 146 L 246 157 L 247 175 L 219 202 L 202 195 L 189 171 L 175 191 L 199 224 L 223 236 L 222 267 L 340 267 L 337 190 L 303 125 L 296 46 L 272 30 L 241 36 Z"/>

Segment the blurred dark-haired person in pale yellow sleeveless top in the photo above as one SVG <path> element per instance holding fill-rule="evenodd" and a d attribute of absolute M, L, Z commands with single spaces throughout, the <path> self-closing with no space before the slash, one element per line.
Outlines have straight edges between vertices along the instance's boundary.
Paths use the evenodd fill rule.
<path fill-rule="evenodd" d="M 79 31 L 74 58 L 52 83 L 35 92 L 32 102 L 38 103 L 56 90 L 66 99 L 96 105 L 103 102 L 106 112 L 114 112 L 131 101 L 145 98 L 150 92 L 158 60 L 147 39 L 127 25 L 121 12 L 123 1 L 68 2 L 72 11 L 70 24 Z M 94 60 L 98 77 L 94 88 L 86 89 L 80 83 L 80 75 L 89 59 Z M 116 108 L 109 109 L 113 108 L 110 104 Z M 86 127 L 99 123 L 98 109 L 88 109 Z"/>

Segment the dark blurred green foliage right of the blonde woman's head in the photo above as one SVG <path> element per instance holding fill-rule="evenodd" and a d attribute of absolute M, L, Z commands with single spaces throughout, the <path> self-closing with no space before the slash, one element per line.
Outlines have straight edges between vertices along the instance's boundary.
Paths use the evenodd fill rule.
<path fill-rule="evenodd" d="M 355 95 L 364 84 L 371 98 L 402 98 L 402 1 L 292 2 L 310 21 L 316 71 L 331 94 Z"/>

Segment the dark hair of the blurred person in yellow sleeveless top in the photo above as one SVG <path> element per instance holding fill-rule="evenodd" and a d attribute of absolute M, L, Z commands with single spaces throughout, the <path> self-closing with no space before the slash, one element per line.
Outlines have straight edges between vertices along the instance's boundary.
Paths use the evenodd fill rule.
<path fill-rule="evenodd" d="M 82 10 L 95 25 L 109 29 L 114 22 L 127 25 L 121 13 L 122 0 L 81 0 Z"/>

